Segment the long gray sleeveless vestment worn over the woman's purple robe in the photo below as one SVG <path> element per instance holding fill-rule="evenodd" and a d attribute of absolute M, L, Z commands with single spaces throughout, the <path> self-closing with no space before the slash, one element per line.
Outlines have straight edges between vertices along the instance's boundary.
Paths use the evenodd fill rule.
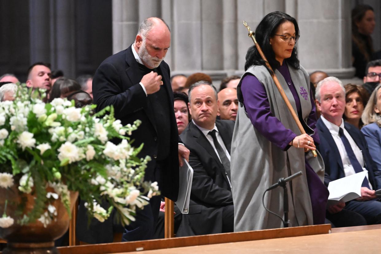
<path fill-rule="evenodd" d="M 309 76 L 302 67 L 299 70 L 290 67 L 289 71 L 296 91 L 310 91 Z M 285 128 L 290 129 L 296 135 L 301 135 L 266 67 L 251 66 L 247 72 L 253 74 L 266 89 L 272 115 L 282 122 Z M 287 82 L 278 70 L 275 70 L 275 75 L 282 85 L 294 111 L 298 112 Z M 278 217 L 269 214 L 264 209 L 262 196 L 264 191 L 272 184 L 277 183 L 279 178 L 288 177 L 298 171 L 302 171 L 303 175 L 295 178 L 287 186 L 290 226 L 313 225 L 305 163 L 307 159 L 309 165 L 323 182 L 324 163 L 322 157 L 318 153 L 318 157 L 314 158 L 311 152 L 305 155 L 303 149 L 293 146 L 287 151 L 283 151 L 279 146 L 264 137 L 253 126 L 245 111 L 243 96 L 240 90 L 241 82 L 237 87 L 240 104 L 231 148 L 234 231 L 283 227 L 282 221 Z M 298 93 L 298 96 L 304 120 L 302 125 L 306 133 L 312 135 L 314 131 L 306 124 L 312 109 L 311 100 L 309 97 L 308 100 L 306 99 L 305 93 Z M 310 95 L 308 94 L 308 96 Z M 279 187 L 268 191 L 264 198 L 264 204 L 267 209 L 283 218 L 283 188 Z"/>

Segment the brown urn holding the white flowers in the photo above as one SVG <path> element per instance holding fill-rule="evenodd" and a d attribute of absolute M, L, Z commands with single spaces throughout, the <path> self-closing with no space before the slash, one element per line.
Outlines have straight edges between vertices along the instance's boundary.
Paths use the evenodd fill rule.
<path fill-rule="evenodd" d="M 46 191 L 53 191 L 47 188 Z M 59 253 L 54 248 L 54 240 L 61 237 L 69 228 L 69 215 L 61 202 L 61 199 L 56 199 L 51 205 L 56 207 L 57 216 L 50 224 L 44 227 L 43 223 L 36 220 L 27 225 L 19 225 L 18 219 L 21 219 L 24 214 L 31 211 L 35 204 L 35 196 L 31 194 L 21 193 L 17 186 L 13 188 L 0 188 L 0 213 L 3 214 L 5 199 L 8 199 L 6 214 L 14 219 L 13 225 L 8 228 L 0 227 L 0 238 L 7 241 L 7 247 L 3 250 L 3 254 L 39 254 L 39 253 Z M 70 191 L 70 209 L 73 210 L 77 192 Z M 16 207 L 21 203 L 22 199 L 26 199 L 24 214 L 16 214 Z"/>

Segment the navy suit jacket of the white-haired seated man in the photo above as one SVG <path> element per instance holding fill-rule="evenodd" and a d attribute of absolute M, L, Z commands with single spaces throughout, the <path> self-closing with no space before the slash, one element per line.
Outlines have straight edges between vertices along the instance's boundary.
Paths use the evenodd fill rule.
<path fill-rule="evenodd" d="M 322 154 L 324 160 L 324 183 L 328 186 L 329 182 L 345 177 L 344 167 L 335 140 L 333 140 L 330 131 L 327 126 L 325 126 L 321 118 L 317 121 L 316 126 L 320 137 L 320 144 L 317 148 L 320 154 Z M 347 122 L 344 123 L 344 128 L 362 151 L 365 168 L 368 170 L 369 182 L 373 186 L 374 190 L 378 190 L 381 187 L 381 174 L 369 154 L 367 141 L 365 141 L 364 135 L 359 129 L 351 124 L 348 124 Z"/>

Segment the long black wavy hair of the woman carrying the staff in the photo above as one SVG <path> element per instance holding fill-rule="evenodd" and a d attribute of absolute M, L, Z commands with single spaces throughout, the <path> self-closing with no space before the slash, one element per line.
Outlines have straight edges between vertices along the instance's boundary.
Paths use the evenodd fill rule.
<path fill-rule="evenodd" d="M 269 61 L 269 64 L 273 70 L 279 67 L 280 63 L 275 59 L 274 50 L 272 50 L 272 47 L 270 45 L 270 38 L 274 37 L 278 27 L 287 21 L 290 21 L 294 24 L 295 36 L 297 37 L 299 35 L 299 26 L 296 22 L 296 19 L 281 11 L 274 11 L 272 13 L 267 14 L 261 20 L 261 22 L 259 22 L 257 28 L 255 29 L 256 40 L 259 43 L 259 46 L 261 46 L 262 51 L 266 56 L 267 61 Z M 294 69 L 300 68 L 299 59 L 296 55 L 296 47 L 294 47 L 291 53 L 291 57 L 285 59 L 284 61 L 286 61 L 287 64 L 289 66 L 292 66 Z M 259 52 L 255 45 L 251 46 L 247 51 L 245 71 L 252 65 L 266 66 L 265 61 L 261 58 L 261 55 L 259 55 Z"/>

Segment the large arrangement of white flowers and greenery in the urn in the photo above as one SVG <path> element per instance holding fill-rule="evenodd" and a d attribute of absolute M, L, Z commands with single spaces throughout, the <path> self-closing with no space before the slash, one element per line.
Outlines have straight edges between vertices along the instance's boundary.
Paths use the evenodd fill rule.
<path fill-rule="evenodd" d="M 23 85 L 15 101 L 0 102 L 0 189 L 35 196 L 32 211 L 8 215 L 3 197 L 0 227 L 36 220 L 47 227 L 57 217 L 55 200 L 70 214 L 69 191 L 79 192 L 90 217 L 103 222 L 115 208 L 122 223 L 134 221 L 136 209 L 159 194 L 157 183 L 143 181 L 150 161 L 138 158 L 143 144 L 134 148 L 125 136 L 141 122 L 123 126 L 112 107 L 94 114 L 95 105 L 75 108 L 62 98 L 44 103 L 39 94 Z M 100 205 L 105 200 L 107 209 Z M 17 210 L 22 204 L 13 206 Z"/>

